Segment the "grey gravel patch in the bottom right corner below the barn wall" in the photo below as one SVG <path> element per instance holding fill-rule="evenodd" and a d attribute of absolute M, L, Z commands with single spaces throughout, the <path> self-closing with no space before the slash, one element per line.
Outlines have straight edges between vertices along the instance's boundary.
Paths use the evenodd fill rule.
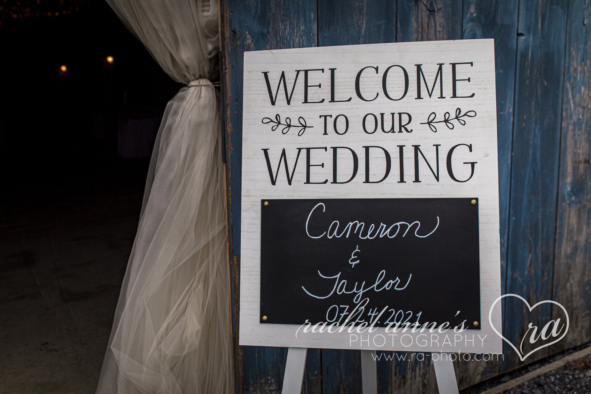
<path fill-rule="evenodd" d="M 505 394 L 589 394 L 591 393 L 591 358 L 589 356 L 564 367 L 534 377 Z"/>

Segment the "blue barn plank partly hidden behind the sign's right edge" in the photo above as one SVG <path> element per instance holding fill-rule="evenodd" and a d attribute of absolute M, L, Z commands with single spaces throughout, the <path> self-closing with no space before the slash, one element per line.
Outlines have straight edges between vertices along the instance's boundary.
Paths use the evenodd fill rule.
<path fill-rule="evenodd" d="M 518 0 L 464 1 L 463 38 L 494 38 L 496 68 L 496 123 L 499 155 L 499 233 L 501 239 L 501 289 L 505 289 L 511 148 L 517 50 Z M 505 345 L 505 344 L 504 344 Z M 502 372 L 501 362 L 460 362 L 460 388 Z"/>

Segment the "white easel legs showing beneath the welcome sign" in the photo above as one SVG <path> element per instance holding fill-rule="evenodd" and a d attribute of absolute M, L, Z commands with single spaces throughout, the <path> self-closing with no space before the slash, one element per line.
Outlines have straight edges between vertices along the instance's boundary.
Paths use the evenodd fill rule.
<path fill-rule="evenodd" d="M 287 350 L 287 363 L 285 363 L 285 376 L 283 379 L 282 394 L 300 394 L 301 383 L 304 379 L 304 366 L 306 365 L 306 347 L 290 347 Z M 363 394 L 378 393 L 378 377 L 376 373 L 375 350 L 361 351 L 361 384 Z M 456 374 L 453 371 L 453 362 L 446 360 L 433 361 L 437 388 L 439 394 L 458 394 Z"/>

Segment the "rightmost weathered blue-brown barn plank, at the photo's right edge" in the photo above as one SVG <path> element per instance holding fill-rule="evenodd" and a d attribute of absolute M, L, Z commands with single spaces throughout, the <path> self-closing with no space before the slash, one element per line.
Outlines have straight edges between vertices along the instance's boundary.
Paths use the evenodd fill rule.
<path fill-rule="evenodd" d="M 562 106 L 553 299 L 570 315 L 552 351 L 591 340 L 591 2 L 571 0 Z M 553 319 L 560 317 L 553 310 Z"/>

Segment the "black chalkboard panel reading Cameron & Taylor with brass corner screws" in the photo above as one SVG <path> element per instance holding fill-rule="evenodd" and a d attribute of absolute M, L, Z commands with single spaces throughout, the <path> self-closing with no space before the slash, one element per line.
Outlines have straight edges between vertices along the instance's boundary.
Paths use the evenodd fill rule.
<path fill-rule="evenodd" d="M 261 200 L 261 323 L 479 328 L 479 272 L 477 198 Z"/>

